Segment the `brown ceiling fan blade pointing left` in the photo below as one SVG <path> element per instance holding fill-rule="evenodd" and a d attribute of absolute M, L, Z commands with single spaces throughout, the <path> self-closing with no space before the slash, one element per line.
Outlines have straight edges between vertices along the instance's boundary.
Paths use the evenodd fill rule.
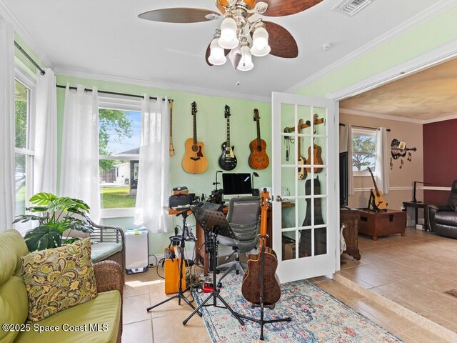
<path fill-rule="evenodd" d="M 207 14 L 219 15 L 219 13 L 209 11 L 208 9 L 186 9 L 176 7 L 174 9 L 154 9 L 153 11 L 139 14 L 139 18 L 160 21 L 162 23 L 199 23 L 201 21 L 208 21 L 208 19 L 205 18 Z"/>

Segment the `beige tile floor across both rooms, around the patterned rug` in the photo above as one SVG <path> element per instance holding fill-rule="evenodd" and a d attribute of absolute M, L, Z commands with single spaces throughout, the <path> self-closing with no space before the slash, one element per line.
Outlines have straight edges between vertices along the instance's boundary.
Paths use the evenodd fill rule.
<path fill-rule="evenodd" d="M 415 229 L 407 229 L 406 237 L 393 235 L 379 238 L 377 242 L 359 237 L 361 261 L 343 255 L 345 263 L 338 273 L 388 299 L 398 299 L 403 306 L 410 306 L 408 308 L 456 331 L 457 298 L 441 294 L 442 289 L 457 288 L 457 272 L 452 263 L 457 262 L 453 259 L 452 252 L 456 249 L 453 244 L 457 241 Z M 164 274 L 161 267 L 159 274 Z M 313 282 L 406 343 L 450 342 L 331 278 L 318 277 Z M 151 304 L 164 299 L 167 299 L 164 282 L 155 268 L 126 276 L 122 342 L 211 342 L 203 320 L 197 315 L 186 326 L 182 324 L 192 310 L 182 302 L 179 306 L 177 299 L 146 312 Z"/>

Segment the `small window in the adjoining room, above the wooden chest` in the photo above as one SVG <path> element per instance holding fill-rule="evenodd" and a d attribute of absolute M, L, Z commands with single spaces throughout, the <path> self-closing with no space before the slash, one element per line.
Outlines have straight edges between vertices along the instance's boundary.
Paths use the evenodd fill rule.
<path fill-rule="evenodd" d="M 352 129 L 352 170 L 353 175 L 369 175 L 376 169 L 376 131 Z"/>

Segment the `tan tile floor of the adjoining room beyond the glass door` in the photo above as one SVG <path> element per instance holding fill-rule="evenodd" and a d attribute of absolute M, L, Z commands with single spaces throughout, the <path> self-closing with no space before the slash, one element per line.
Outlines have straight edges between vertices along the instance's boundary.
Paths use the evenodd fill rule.
<path fill-rule="evenodd" d="M 457 239 L 406 228 L 406 236 L 359 235 L 361 260 L 343 254 L 340 274 L 457 332 Z"/>

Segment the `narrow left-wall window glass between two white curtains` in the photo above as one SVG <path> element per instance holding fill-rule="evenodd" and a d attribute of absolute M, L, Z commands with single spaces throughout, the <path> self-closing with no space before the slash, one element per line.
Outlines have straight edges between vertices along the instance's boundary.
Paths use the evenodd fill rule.
<path fill-rule="evenodd" d="M 31 88 L 16 79 L 14 101 L 16 216 L 25 214 L 27 202 L 33 192 L 34 150 L 31 134 L 31 109 L 33 108 L 31 99 Z"/>

